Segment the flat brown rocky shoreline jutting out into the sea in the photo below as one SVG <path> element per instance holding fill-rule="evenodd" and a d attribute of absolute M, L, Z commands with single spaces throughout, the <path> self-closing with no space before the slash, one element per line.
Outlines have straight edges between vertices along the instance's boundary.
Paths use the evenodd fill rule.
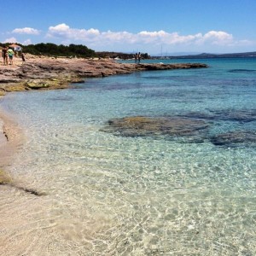
<path fill-rule="evenodd" d="M 31 59 L 20 66 L 0 68 L 0 92 L 14 90 L 49 90 L 67 88 L 84 78 L 135 73 L 146 70 L 207 67 L 201 63 L 134 64 L 112 60 Z"/>

